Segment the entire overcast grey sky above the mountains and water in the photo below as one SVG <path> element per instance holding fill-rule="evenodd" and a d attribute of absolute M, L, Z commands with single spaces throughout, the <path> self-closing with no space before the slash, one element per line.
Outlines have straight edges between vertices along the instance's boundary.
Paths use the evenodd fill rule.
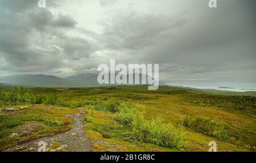
<path fill-rule="evenodd" d="M 0 0 L 0 76 L 159 64 L 160 80 L 256 83 L 256 1 Z"/>

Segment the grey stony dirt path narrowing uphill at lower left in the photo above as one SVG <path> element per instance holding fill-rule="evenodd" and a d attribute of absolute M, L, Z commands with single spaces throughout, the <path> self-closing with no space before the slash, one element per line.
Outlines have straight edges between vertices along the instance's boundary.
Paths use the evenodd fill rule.
<path fill-rule="evenodd" d="M 80 113 L 73 115 L 73 127 L 71 130 L 55 136 L 32 140 L 22 145 L 11 147 L 5 151 L 38 151 L 38 143 L 46 142 L 46 150 L 49 152 L 69 151 L 69 152 L 89 152 L 92 151 L 92 146 L 85 135 L 83 114 L 85 111 L 80 109 Z"/>

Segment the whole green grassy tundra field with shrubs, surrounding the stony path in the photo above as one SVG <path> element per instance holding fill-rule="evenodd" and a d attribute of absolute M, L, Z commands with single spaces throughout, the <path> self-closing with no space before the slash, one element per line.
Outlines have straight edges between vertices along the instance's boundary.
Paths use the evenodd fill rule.
<path fill-rule="evenodd" d="M 30 106 L 0 114 L 0 149 L 67 131 L 72 122 L 65 114 L 84 108 L 94 151 L 208 151 L 209 141 L 218 151 L 256 150 L 256 97 L 246 93 L 168 86 L 147 91 L 143 85 L 0 91 L 2 108 Z M 37 124 L 35 130 L 10 139 L 29 123 Z"/>

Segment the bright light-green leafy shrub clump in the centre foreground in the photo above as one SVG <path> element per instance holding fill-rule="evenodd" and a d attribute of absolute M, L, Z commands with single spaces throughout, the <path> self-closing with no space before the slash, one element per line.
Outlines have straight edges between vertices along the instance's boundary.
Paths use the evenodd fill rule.
<path fill-rule="evenodd" d="M 143 141 L 182 150 L 185 147 L 184 127 L 165 125 L 162 118 L 147 121 L 142 115 L 142 105 L 121 104 L 115 113 L 115 121 L 129 126 L 129 141 Z"/>

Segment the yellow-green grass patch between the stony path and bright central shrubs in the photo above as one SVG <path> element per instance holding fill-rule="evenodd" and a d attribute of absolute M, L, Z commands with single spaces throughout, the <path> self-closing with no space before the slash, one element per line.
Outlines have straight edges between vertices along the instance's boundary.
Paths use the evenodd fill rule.
<path fill-rule="evenodd" d="M 90 116 L 91 110 L 87 109 L 87 111 L 88 114 L 86 114 L 86 116 Z M 93 122 L 86 122 L 85 125 L 85 132 L 90 138 L 95 152 L 174 151 L 173 149 L 159 147 L 154 144 L 142 142 L 131 143 L 129 141 L 125 141 L 123 140 L 123 134 L 128 131 L 129 128 L 114 121 L 113 113 L 101 113 L 100 111 L 94 111 Z M 106 135 L 108 135 L 108 137 Z"/>

